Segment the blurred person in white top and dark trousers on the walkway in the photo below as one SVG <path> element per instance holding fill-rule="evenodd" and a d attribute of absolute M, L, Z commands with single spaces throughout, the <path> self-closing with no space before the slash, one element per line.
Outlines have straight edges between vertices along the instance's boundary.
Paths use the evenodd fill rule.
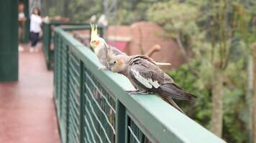
<path fill-rule="evenodd" d="M 30 17 L 30 38 L 31 38 L 31 47 L 29 49 L 30 52 L 39 50 L 39 48 L 37 48 L 36 45 L 37 45 L 37 41 L 39 40 L 41 24 L 42 24 L 42 18 L 40 16 L 40 10 L 37 7 L 35 7 Z"/>

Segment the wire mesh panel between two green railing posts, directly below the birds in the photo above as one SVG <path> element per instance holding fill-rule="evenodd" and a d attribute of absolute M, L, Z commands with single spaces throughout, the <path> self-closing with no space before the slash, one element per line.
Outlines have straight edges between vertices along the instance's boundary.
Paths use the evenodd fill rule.
<path fill-rule="evenodd" d="M 90 71 L 85 69 L 84 76 L 84 142 L 114 142 L 116 134 L 114 99 Z"/>

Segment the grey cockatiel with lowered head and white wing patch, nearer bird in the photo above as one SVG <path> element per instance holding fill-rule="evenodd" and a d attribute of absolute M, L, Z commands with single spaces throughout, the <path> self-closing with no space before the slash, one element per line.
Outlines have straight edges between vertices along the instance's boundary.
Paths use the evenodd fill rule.
<path fill-rule="evenodd" d="M 165 74 L 153 59 L 147 56 L 117 55 L 109 56 L 111 71 L 123 74 L 137 88 L 137 91 L 128 91 L 131 94 L 154 93 L 159 95 L 183 113 L 173 101 L 174 99 L 191 100 L 196 96 L 185 92 L 174 84 L 173 79 Z"/>

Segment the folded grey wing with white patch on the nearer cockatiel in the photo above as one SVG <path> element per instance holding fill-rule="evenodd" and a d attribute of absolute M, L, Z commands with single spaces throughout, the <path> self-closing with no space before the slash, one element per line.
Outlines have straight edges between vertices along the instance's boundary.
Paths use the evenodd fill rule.
<path fill-rule="evenodd" d="M 134 56 L 129 63 L 129 79 L 147 92 L 154 92 L 165 97 L 175 99 L 194 99 L 196 96 L 185 92 L 173 83 L 165 72 L 163 72 L 152 60 L 144 56 Z"/>

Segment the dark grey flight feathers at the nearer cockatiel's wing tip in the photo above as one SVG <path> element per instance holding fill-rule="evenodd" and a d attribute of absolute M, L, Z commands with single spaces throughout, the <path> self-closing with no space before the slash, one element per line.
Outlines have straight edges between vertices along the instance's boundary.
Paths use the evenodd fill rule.
<path fill-rule="evenodd" d="M 183 100 L 191 100 L 196 98 L 195 95 L 185 92 L 183 89 L 181 89 L 180 87 L 178 87 L 178 85 L 174 83 L 161 85 L 158 94 L 161 94 L 165 97 L 172 97 L 174 99 Z"/>

